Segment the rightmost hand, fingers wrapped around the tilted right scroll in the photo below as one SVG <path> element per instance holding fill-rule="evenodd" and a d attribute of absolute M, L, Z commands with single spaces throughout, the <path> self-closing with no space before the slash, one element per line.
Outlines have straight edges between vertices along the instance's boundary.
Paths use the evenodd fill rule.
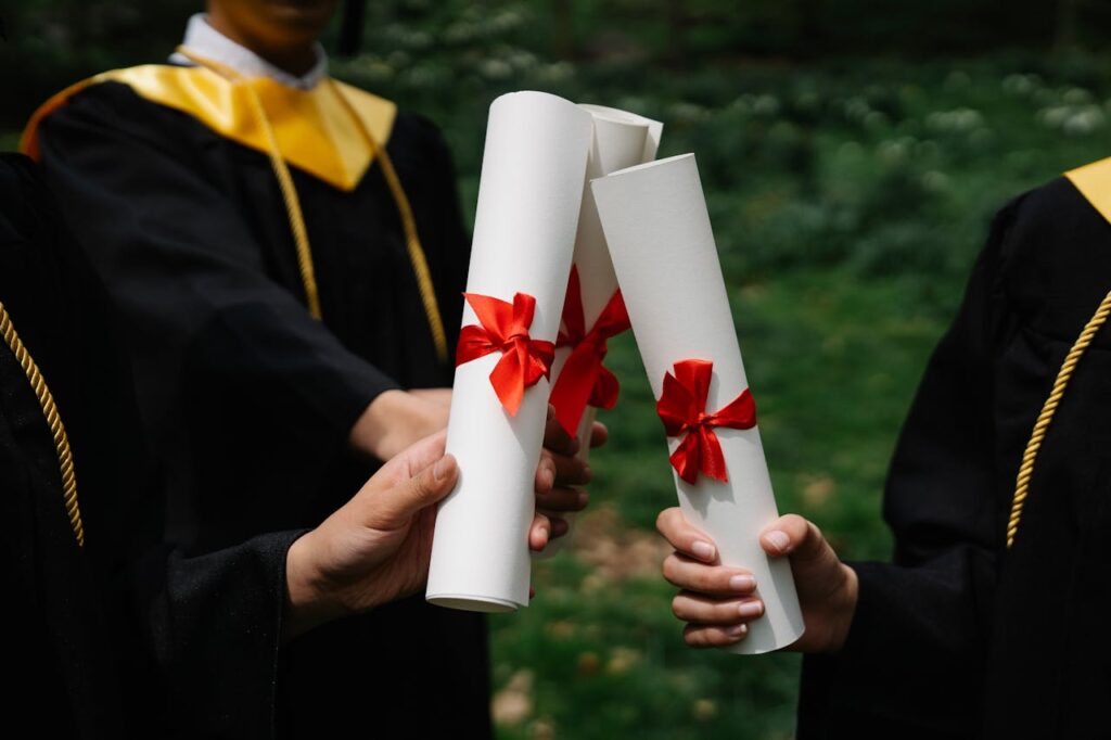
<path fill-rule="evenodd" d="M 721 564 L 713 540 L 678 508 L 661 512 L 655 526 L 675 549 L 663 561 L 663 577 L 681 589 L 671 609 L 687 622 L 687 644 L 711 648 L 743 640 L 748 623 L 763 613 L 763 603 L 753 596 L 758 583 L 752 574 Z M 780 517 L 765 528 L 760 546 L 772 558 L 788 557 L 794 573 L 805 631 L 784 649 L 839 650 L 857 607 L 855 571 L 841 562 L 813 522 L 798 514 Z"/>

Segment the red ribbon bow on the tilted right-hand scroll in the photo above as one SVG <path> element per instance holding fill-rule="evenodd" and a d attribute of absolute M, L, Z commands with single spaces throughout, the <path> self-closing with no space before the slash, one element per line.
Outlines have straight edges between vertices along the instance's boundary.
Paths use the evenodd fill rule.
<path fill-rule="evenodd" d="M 655 402 L 668 437 L 685 434 L 671 454 L 671 466 L 688 483 L 698 480 L 699 470 L 710 478 L 728 481 L 725 458 L 713 427 L 752 429 L 757 426 L 757 404 L 745 388 L 740 396 L 713 413 L 705 412 L 713 362 L 681 360 L 675 374 L 663 376 L 663 394 Z"/>

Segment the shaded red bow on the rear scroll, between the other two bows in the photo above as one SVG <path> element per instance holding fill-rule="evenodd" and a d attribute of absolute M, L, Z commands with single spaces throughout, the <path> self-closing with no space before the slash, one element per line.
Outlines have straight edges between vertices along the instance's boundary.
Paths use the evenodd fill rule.
<path fill-rule="evenodd" d="M 563 302 L 563 324 L 556 347 L 573 349 L 556 379 L 550 399 L 556 407 L 556 419 L 571 437 L 578 433 L 588 404 L 608 410 L 618 402 L 621 387 L 617 376 L 602 367 L 602 361 L 609 351 L 607 340 L 629 328 L 629 313 L 621 291 L 614 291 L 590 331 L 587 331 L 585 324 L 579 270 L 571 266 L 571 280 Z"/>

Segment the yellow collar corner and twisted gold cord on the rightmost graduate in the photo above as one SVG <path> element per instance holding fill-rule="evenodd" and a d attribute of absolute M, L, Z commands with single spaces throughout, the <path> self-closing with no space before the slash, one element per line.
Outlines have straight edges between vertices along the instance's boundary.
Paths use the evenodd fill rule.
<path fill-rule="evenodd" d="M 1111 158 L 1065 172 L 1064 177 L 1069 178 L 1077 190 L 1080 191 L 1080 194 L 1088 199 L 1092 208 L 1111 222 Z M 1019 476 L 1015 480 L 1014 497 L 1011 500 L 1011 516 L 1007 522 L 1008 548 L 1014 544 L 1014 536 L 1019 531 L 1019 522 L 1022 519 L 1022 507 L 1030 494 L 1030 478 L 1034 471 L 1038 450 L 1041 449 L 1042 442 L 1045 439 L 1045 432 L 1049 430 L 1050 422 L 1053 421 L 1053 413 L 1064 397 L 1069 379 L 1072 378 L 1073 372 L 1077 370 L 1080 359 L 1092 343 L 1092 339 L 1095 338 L 1095 332 L 1107 322 L 1109 314 L 1111 314 L 1111 291 L 1100 301 L 1095 313 L 1088 320 L 1088 323 L 1084 324 L 1083 330 L 1080 332 L 1080 337 L 1073 342 L 1072 348 L 1064 358 L 1064 362 L 1061 364 L 1061 369 L 1057 373 L 1057 379 L 1053 381 L 1053 388 L 1049 393 L 1049 398 L 1045 399 L 1041 413 L 1038 414 L 1033 432 L 1030 434 L 1030 441 L 1027 442 L 1027 449 L 1022 453 L 1022 462 L 1019 466 Z"/>

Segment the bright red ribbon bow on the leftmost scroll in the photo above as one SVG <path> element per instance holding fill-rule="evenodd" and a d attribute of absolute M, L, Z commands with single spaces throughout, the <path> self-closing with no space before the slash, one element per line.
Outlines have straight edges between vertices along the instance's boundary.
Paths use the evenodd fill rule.
<path fill-rule="evenodd" d="M 554 344 L 529 337 L 537 299 L 528 293 L 517 293 L 512 303 L 477 293 L 463 293 L 463 298 L 474 309 L 481 326 L 463 327 L 456 349 L 456 367 L 501 352 L 490 372 L 490 384 L 509 414 L 517 416 L 524 389 L 548 377 L 556 357 Z"/>

